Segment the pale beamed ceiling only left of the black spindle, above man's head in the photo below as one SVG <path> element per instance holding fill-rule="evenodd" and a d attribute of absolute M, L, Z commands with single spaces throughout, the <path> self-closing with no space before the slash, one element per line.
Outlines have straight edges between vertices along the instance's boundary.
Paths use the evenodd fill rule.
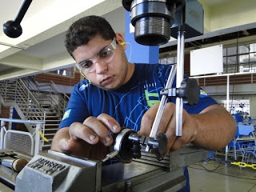
<path fill-rule="evenodd" d="M 0 23 L 14 20 L 22 2 L 1 2 Z M 71 23 L 85 15 L 101 15 L 114 30 L 124 34 L 126 10 L 122 1 L 94 0 L 88 4 L 85 0 L 32 1 L 21 22 L 20 37 L 9 38 L 0 31 L 0 80 L 74 66 L 74 60 L 66 52 L 64 37 Z"/>

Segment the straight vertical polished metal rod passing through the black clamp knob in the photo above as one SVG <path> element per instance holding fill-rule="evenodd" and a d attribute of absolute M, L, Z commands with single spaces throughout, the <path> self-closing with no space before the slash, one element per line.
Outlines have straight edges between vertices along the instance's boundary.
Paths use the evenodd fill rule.
<path fill-rule="evenodd" d="M 176 87 L 180 87 L 184 78 L 184 31 L 178 31 Z M 176 98 L 176 136 L 182 136 L 183 99 Z"/>

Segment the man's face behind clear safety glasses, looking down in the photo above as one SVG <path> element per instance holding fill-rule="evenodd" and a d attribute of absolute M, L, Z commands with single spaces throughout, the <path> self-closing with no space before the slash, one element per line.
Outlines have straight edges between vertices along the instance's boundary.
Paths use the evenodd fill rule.
<path fill-rule="evenodd" d="M 86 45 L 78 46 L 73 56 L 86 78 L 102 90 L 115 90 L 129 80 L 126 54 L 115 41 L 98 35 Z"/>

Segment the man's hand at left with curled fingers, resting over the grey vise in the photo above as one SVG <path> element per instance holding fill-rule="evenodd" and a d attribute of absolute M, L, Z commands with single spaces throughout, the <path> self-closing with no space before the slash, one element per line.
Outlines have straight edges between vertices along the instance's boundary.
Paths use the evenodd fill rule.
<path fill-rule="evenodd" d="M 120 130 L 118 122 L 108 114 L 89 117 L 83 123 L 74 122 L 70 127 L 58 130 L 51 150 L 102 160 L 109 152 L 108 146 L 114 142 L 110 132 L 118 133 Z"/>

